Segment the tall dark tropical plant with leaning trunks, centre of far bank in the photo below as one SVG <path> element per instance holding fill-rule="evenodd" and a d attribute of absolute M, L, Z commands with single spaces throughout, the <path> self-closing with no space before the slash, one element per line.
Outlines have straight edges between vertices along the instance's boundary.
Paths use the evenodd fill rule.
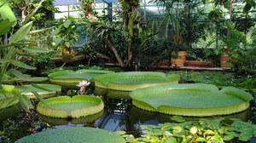
<path fill-rule="evenodd" d="M 90 31 L 96 32 L 109 49 L 121 67 L 131 67 L 134 56 L 148 49 L 155 33 L 150 26 L 142 22 L 142 16 L 137 9 L 139 1 L 119 1 L 122 9 L 117 10 L 113 20 L 107 16 L 96 16 L 96 20 L 88 20 Z M 116 9 L 114 9 L 116 10 Z M 122 21 L 120 21 L 122 20 Z"/>

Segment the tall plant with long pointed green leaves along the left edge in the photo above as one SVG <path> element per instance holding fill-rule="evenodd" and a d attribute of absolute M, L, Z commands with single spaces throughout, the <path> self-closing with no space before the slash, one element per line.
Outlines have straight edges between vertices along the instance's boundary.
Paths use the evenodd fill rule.
<path fill-rule="evenodd" d="M 0 49 L 2 50 L 2 57 L 0 57 L 0 89 L 5 90 L 6 88 L 3 86 L 2 81 L 3 77 L 7 76 L 8 74 L 13 74 L 15 77 L 19 77 L 22 80 L 30 81 L 30 77 L 24 76 L 20 71 L 16 70 L 16 67 L 19 68 L 25 68 L 25 69 L 35 69 L 35 67 L 28 66 L 24 62 L 21 62 L 20 60 L 17 60 L 16 57 L 18 54 L 25 54 L 24 51 L 28 52 L 35 52 L 35 51 L 41 51 L 41 52 L 47 52 L 48 50 L 43 48 L 38 48 L 38 45 L 33 44 L 31 41 L 26 39 L 30 34 L 37 33 L 40 31 L 48 30 L 50 28 L 46 28 L 44 30 L 39 31 L 31 31 L 32 29 L 32 21 L 29 21 L 33 14 L 36 13 L 36 11 L 42 6 L 42 3 L 44 3 L 44 0 L 42 0 L 40 3 L 38 3 L 38 7 L 32 11 L 31 14 L 27 15 L 26 20 L 22 22 L 22 26 L 18 30 L 12 30 L 16 26 L 16 17 L 13 11 L 9 7 L 9 3 L 6 0 L 0 0 L 0 23 L 5 24 L 1 25 L 0 27 L 0 33 L 1 35 L 10 35 L 8 38 L 8 42 L 2 42 L 0 45 Z M 7 29 L 4 29 L 7 28 Z M 9 88 L 9 87 L 7 87 Z M 9 91 L 12 93 L 12 90 L 14 88 L 11 88 Z M 29 108 L 32 108 L 32 104 L 30 100 L 27 99 L 25 95 L 20 95 L 20 91 L 15 90 L 14 93 L 10 95 L 10 97 L 6 98 L 13 98 L 15 100 L 20 101 L 20 105 L 23 109 L 26 111 Z M 39 98 L 39 97 L 38 97 Z M 12 104 L 15 102 L 15 100 L 9 100 L 9 104 Z M 1 101 L 1 103 L 4 103 Z M 0 104 L 0 107 L 6 107 L 9 106 L 9 104 Z"/>

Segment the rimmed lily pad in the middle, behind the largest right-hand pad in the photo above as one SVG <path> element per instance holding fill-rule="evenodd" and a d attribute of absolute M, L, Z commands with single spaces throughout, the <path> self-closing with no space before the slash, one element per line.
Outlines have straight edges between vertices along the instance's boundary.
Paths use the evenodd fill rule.
<path fill-rule="evenodd" d="M 166 77 L 163 72 L 115 72 L 93 78 L 95 86 L 102 89 L 132 91 L 153 85 L 177 83 L 178 75 Z"/>

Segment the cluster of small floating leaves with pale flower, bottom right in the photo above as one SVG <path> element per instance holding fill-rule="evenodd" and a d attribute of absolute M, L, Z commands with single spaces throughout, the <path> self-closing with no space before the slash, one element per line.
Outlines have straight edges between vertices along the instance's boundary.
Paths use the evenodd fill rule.
<path fill-rule="evenodd" d="M 182 117 L 181 117 L 182 118 Z M 248 141 L 256 134 L 252 123 L 233 119 L 225 123 L 224 118 L 186 121 L 182 123 L 159 123 L 158 125 L 141 125 L 143 135 L 131 142 L 212 142 L 223 143 L 238 138 Z M 128 138 L 128 135 L 123 135 Z"/>

